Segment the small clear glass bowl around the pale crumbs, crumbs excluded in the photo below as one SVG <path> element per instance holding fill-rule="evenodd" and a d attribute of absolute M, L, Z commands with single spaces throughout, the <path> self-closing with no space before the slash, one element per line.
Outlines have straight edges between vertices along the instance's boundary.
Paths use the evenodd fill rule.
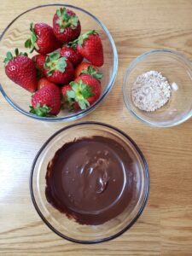
<path fill-rule="evenodd" d="M 138 56 L 127 68 L 123 83 L 125 106 L 144 123 L 168 127 L 183 123 L 192 116 L 192 68 L 183 55 L 169 49 L 154 49 Z M 150 70 L 162 73 L 171 84 L 170 100 L 154 112 L 137 108 L 131 98 L 131 87 L 137 76 Z"/>

